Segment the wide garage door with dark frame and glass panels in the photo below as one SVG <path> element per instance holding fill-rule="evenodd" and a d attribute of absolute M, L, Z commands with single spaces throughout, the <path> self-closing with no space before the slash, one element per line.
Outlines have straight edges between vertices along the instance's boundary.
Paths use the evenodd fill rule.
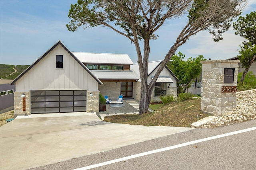
<path fill-rule="evenodd" d="M 31 114 L 86 111 L 86 90 L 31 91 Z"/>

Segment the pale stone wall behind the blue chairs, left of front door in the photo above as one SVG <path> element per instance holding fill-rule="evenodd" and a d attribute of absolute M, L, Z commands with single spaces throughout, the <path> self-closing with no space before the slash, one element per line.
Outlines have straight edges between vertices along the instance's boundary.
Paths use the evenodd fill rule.
<path fill-rule="evenodd" d="M 121 93 L 121 82 L 103 82 L 99 85 L 100 94 L 108 96 L 109 99 L 116 100 Z"/>

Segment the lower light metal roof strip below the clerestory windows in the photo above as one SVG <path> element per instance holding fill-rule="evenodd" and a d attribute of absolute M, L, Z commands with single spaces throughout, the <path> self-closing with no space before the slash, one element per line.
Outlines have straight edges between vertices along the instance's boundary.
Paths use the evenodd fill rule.
<path fill-rule="evenodd" d="M 91 72 L 100 80 L 138 80 L 140 78 L 133 70 L 91 70 Z"/>

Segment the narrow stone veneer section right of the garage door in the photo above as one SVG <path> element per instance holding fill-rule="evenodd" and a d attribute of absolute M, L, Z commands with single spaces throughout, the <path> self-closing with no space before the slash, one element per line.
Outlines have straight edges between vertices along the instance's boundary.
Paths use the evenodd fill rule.
<path fill-rule="evenodd" d="M 92 93 L 93 96 L 90 96 L 90 93 Z M 99 109 L 100 109 L 100 92 L 87 91 L 86 111 L 99 112 Z"/>

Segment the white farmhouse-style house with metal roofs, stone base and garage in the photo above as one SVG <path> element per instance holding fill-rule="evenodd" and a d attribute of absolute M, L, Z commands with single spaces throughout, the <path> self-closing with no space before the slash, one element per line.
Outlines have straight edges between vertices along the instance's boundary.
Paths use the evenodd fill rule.
<path fill-rule="evenodd" d="M 148 82 L 162 61 L 150 62 Z M 152 99 L 177 94 L 178 78 L 165 67 Z M 95 112 L 99 94 L 140 100 L 138 64 L 128 55 L 71 52 L 61 41 L 10 84 L 16 84 L 14 114 Z"/>

